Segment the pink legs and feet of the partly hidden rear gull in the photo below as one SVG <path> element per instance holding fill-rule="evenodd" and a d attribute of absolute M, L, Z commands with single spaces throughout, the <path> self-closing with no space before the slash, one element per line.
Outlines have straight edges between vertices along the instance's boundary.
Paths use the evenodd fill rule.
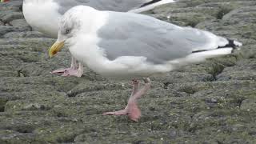
<path fill-rule="evenodd" d="M 62 76 L 76 76 L 76 77 L 81 77 L 82 73 L 83 73 L 82 63 L 79 62 L 79 64 L 77 65 L 77 60 L 74 57 L 72 57 L 70 68 L 54 70 L 53 72 L 51 72 L 51 74 L 62 74 Z"/>

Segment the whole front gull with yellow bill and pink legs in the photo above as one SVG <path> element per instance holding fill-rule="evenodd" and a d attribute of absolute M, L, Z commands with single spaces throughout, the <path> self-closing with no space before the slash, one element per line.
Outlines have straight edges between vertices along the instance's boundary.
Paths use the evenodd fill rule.
<path fill-rule="evenodd" d="M 140 116 L 136 100 L 150 88 L 147 77 L 231 54 L 236 46 L 242 46 L 204 30 L 175 26 L 142 14 L 98 11 L 89 6 L 76 6 L 64 14 L 50 56 L 64 43 L 74 58 L 107 78 L 146 78 L 142 90 L 134 82 L 125 110 L 106 113 L 129 114 L 134 121 Z"/>

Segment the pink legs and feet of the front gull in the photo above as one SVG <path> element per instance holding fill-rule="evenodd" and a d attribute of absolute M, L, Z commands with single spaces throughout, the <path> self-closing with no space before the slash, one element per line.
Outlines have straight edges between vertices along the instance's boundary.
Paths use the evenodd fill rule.
<path fill-rule="evenodd" d="M 138 122 L 138 118 L 141 117 L 141 110 L 139 110 L 137 105 L 138 98 L 141 98 L 143 94 L 146 94 L 146 91 L 150 89 L 150 78 L 144 79 L 145 86 L 141 90 L 138 90 L 138 81 L 133 81 L 133 92 L 130 96 L 128 104 L 124 110 L 118 110 L 114 112 L 107 112 L 104 115 L 125 115 L 127 114 L 129 118 L 135 122 Z"/>

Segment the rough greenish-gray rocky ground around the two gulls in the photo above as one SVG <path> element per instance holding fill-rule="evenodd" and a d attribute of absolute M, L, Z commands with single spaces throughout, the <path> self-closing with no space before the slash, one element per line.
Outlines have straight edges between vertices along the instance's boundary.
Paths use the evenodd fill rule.
<path fill-rule="evenodd" d="M 130 82 L 70 66 L 67 50 L 31 30 L 22 1 L 0 4 L 0 143 L 256 143 L 256 1 L 181 0 L 147 12 L 243 42 L 235 54 L 151 78 L 142 118 L 103 116 L 126 106 Z"/>

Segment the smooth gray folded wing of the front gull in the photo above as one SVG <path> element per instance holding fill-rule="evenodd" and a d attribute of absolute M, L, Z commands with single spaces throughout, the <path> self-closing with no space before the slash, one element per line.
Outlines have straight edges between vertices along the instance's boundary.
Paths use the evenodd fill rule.
<path fill-rule="evenodd" d="M 211 33 L 182 28 L 141 14 L 110 12 L 110 19 L 98 30 L 98 37 L 102 38 L 98 46 L 110 60 L 143 56 L 148 62 L 160 64 L 184 58 L 194 50 L 210 49 L 211 39 L 207 34 Z M 210 36 L 218 38 L 214 34 Z"/>

